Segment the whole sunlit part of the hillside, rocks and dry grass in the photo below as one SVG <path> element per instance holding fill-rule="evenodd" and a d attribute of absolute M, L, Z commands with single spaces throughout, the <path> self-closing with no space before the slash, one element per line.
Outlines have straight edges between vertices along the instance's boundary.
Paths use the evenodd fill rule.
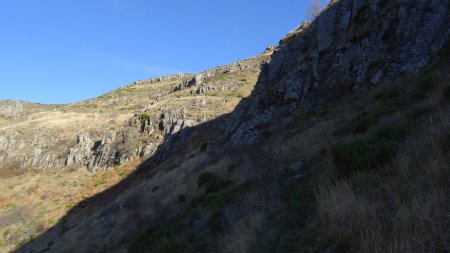
<path fill-rule="evenodd" d="M 119 182 L 180 130 L 230 113 L 271 53 L 197 75 L 137 81 L 74 104 L 0 101 L 0 251 Z"/>

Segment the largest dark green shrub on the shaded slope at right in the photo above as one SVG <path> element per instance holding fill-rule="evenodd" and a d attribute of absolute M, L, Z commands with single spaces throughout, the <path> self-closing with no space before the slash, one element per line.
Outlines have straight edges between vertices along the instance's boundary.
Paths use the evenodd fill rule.
<path fill-rule="evenodd" d="M 353 172 L 374 169 L 389 162 L 405 135 L 402 127 L 384 126 L 364 138 L 333 146 L 330 153 L 337 173 L 350 176 Z"/>

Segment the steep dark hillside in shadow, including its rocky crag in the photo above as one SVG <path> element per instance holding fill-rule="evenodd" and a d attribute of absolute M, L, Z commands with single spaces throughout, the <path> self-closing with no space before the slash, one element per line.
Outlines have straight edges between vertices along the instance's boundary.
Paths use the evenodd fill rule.
<path fill-rule="evenodd" d="M 232 113 L 17 252 L 447 252 L 449 8 L 332 1 Z"/>

